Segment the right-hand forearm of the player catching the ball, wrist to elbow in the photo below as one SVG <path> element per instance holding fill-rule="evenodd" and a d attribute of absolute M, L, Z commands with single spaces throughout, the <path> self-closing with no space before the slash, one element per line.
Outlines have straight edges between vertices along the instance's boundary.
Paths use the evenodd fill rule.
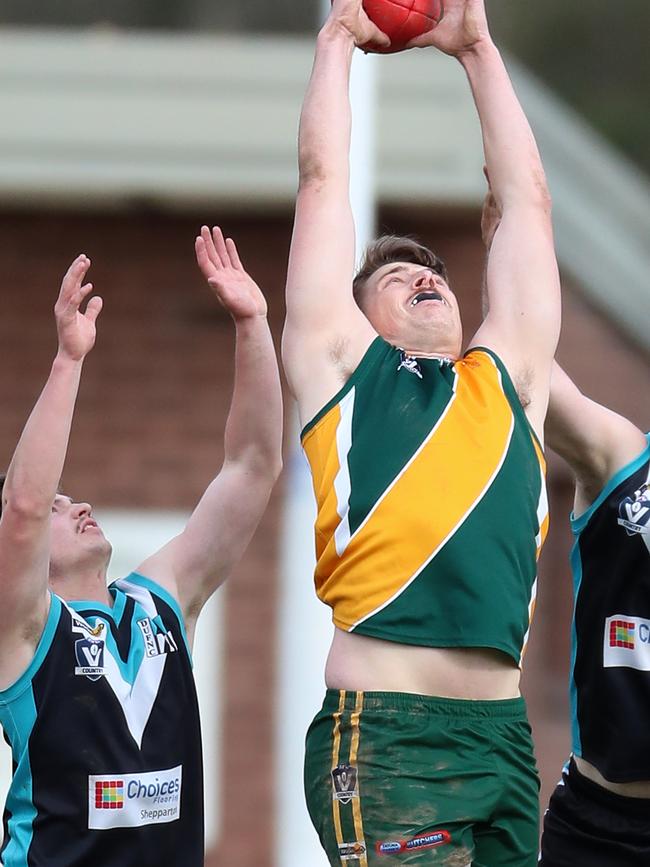
<path fill-rule="evenodd" d="M 548 201 L 537 144 L 498 49 L 483 39 L 459 55 L 478 109 L 490 185 L 501 210 Z"/>

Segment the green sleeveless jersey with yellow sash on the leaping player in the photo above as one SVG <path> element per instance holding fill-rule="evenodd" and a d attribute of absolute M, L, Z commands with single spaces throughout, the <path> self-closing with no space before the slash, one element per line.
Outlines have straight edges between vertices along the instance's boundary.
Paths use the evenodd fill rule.
<path fill-rule="evenodd" d="M 413 358 L 378 337 L 302 445 L 316 591 L 335 625 L 519 664 L 548 507 L 542 451 L 500 359 Z"/>

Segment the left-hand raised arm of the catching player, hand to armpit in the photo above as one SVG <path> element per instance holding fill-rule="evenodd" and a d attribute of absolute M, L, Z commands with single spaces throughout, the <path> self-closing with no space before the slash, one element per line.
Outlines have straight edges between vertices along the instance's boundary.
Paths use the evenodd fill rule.
<path fill-rule="evenodd" d="M 361 0 L 334 0 L 318 35 L 300 117 L 282 355 L 303 421 L 338 390 L 341 367 L 353 369 L 375 336 L 352 297 L 349 195 L 350 65 L 355 44 L 370 40 L 388 42 Z"/>

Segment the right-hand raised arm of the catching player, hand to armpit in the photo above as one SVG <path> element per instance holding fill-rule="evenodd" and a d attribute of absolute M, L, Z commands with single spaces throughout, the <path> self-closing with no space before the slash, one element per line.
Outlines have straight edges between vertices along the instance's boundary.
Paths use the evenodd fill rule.
<path fill-rule="evenodd" d="M 532 131 L 489 34 L 483 0 L 446 0 L 445 16 L 415 41 L 458 58 L 476 103 L 485 161 L 501 212 L 487 265 L 489 313 L 471 341 L 493 348 L 541 432 L 560 329 L 551 207 Z"/>

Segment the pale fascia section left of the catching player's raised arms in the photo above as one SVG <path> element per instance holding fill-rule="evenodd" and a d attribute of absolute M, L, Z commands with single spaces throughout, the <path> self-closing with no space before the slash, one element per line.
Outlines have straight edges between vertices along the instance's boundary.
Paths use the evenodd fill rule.
<path fill-rule="evenodd" d="M 0 31 L 0 195 L 288 201 L 305 61 L 283 40 Z"/>

